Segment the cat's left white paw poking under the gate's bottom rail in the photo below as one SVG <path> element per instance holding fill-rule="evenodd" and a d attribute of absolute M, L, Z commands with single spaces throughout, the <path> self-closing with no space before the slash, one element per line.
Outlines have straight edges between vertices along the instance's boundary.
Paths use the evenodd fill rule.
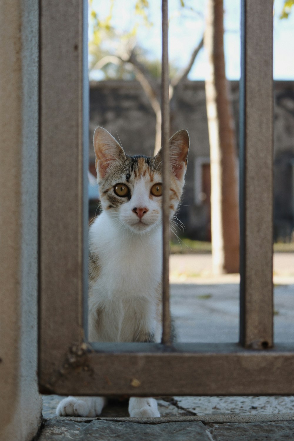
<path fill-rule="evenodd" d="M 60 401 L 56 409 L 57 416 L 89 416 L 100 415 L 104 406 L 102 397 L 69 396 Z"/>

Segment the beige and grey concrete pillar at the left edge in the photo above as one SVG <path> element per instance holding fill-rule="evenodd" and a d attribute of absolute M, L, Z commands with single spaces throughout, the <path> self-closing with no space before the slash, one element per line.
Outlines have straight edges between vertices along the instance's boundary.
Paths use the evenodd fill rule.
<path fill-rule="evenodd" d="M 38 0 L 0 1 L 0 440 L 32 439 L 37 390 Z"/>

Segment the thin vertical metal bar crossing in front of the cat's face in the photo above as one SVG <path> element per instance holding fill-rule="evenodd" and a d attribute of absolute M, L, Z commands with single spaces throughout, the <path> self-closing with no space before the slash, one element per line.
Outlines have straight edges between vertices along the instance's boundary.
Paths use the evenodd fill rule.
<path fill-rule="evenodd" d="M 162 0 L 162 74 L 161 74 L 161 142 L 163 161 L 163 277 L 162 277 L 162 343 L 171 343 L 171 316 L 169 307 L 169 198 L 170 198 L 170 162 L 169 162 L 169 70 L 168 70 L 168 5 Z"/>

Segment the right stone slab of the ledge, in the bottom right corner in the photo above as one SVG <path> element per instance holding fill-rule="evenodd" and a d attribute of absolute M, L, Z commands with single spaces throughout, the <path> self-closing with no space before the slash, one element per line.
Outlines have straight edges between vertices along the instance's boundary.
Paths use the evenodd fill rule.
<path fill-rule="evenodd" d="M 213 424 L 210 441 L 293 441 L 294 421 Z"/>

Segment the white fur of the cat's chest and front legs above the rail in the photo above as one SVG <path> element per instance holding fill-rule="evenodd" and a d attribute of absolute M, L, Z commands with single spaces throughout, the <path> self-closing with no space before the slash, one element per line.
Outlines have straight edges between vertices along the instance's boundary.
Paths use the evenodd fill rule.
<path fill-rule="evenodd" d="M 161 328 L 155 318 L 162 268 L 161 228 L 155 224 L 147 234 L 138 234 L 123 224 L 119 228 L 117 222 L 104 211 L 89 232 L 90 248 L 103 262 L 89 296 L 89 340 L 134 341 L 138 325 L 146 333 L 152 329 L 155 340 L 160 341 Z M 97 329 L 95 311 L 101 308 L 104 312 Z"/>

